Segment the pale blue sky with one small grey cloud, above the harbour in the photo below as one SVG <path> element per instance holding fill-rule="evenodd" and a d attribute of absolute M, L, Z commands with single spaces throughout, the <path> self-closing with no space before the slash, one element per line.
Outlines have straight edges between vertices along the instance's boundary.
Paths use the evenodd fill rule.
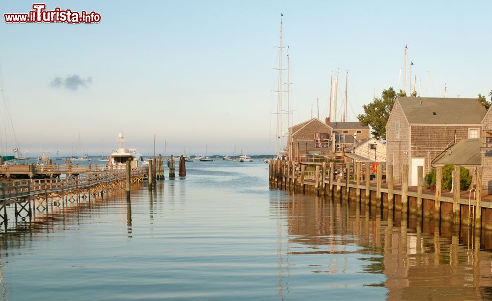
<path fill-rule="evenodd" d="M 272 154 L 280 14 L 291 125 L 318 117 L 318 103 L 326 117 L 337 70 L 338 112 L 348 70 L 347 121 L 356 121 L 374 95 L 402 88 L 405 45 L 421 96 L 492 89 L 490 1 L 43 1 L 101 21 L 5 23 L 4 13 L 33 3 L 0 1 L 1 88 L 12 120 L 2 105 L 2 153 L 12 154 L 13 129 L 28 157 L 76 148 L 109 155 L 120 131 L 144 155 L 154 135 L 156 153 L 165 144 L 168 156 L 232 155 L 235 145 L 237 154 Z"/>

